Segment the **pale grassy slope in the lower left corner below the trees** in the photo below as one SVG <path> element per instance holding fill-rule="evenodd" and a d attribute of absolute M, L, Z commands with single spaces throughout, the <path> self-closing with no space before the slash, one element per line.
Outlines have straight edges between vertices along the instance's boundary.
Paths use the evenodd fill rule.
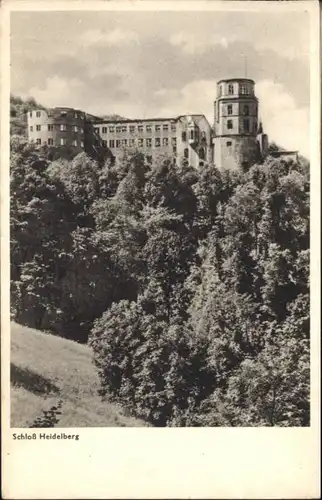
<path fill-rule="evenodd" d="M 11 325 L 11 425 L 28 427 L 58 401 L 55 427 L 140 427 L 146 424 L 97 395 L 87 346 L 31 328 Z"/>

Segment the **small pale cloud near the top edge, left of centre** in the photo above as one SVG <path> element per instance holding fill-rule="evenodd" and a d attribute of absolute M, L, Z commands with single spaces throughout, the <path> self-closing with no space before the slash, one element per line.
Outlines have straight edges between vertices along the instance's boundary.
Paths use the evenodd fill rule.
<path fill-rule="evenodd" d="M 111 31 L 99 29 L 88 30 L 82 36 L 82 43 L 87 46 L 91 45 L 128 45 L 138 43 L 139 36 L 135 31 L 125 31 L 115 28 Z"/>

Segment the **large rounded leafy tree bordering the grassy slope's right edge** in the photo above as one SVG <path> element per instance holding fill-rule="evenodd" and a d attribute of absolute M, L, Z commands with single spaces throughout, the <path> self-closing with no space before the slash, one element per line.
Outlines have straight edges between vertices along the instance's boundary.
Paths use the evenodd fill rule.
<path fill-rule="evenodd" d="M 169 323 L 156 281 L 137 302 L 113 304 L 89 342 L 102 393 L 154 425 L 184 425 L 202 399 L 202 346 L 187 324 Z"/>

